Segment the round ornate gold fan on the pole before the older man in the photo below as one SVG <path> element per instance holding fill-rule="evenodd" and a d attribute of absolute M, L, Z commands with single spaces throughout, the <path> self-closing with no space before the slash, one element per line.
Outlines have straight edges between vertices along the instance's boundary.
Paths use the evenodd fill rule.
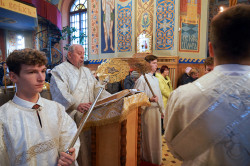
<path fill-rule="evenodd" d="M 129 74 L 129 65 L 120 59 L 108 59 L 103 62 L 97 69 L 99 80 L 109 79 L 109 83 L 119 82 Z"/>

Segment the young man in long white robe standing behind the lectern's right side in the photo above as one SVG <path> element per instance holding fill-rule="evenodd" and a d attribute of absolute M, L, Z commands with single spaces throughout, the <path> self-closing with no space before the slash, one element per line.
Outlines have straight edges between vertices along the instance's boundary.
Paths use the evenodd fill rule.
<path fill-rule="evenodd" d="M 148 55 L 145 57 L 145 60 L 151 66 L 151 72 L 145 75 L 156 96 L 153 96 L 144 79 L 144 76 L 141 75 L 136 81 L 134 88 L 144 91 L 151 102 L 150 107 L 142 108 L 142 160 L 160 165 L 162 160 L 161 113 L 157 102 L 163 111 L 164 105 L 159 81 L 155 76 L 153 76 L 157 69 L 157 57 L 154 55 Z"/>

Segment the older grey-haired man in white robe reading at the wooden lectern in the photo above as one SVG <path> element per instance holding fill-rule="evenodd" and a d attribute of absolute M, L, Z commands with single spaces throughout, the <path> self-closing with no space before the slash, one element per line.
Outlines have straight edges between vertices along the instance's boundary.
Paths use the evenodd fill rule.
<path fill-rule="evenodd" d="M 78 125 L 84 112 L 88 111 L 94 102 L 101 84 L 93 76 L 91 71 L 83 66 L 84 48 L 74 44 L 69 47 L 67 61 L 56 66 L 52 70 L 50 91 L 52 99 L 61 103 L 67 113 Z M 103 91 L 101 98 L 110 96 Z M 79 165 L 91 165 L 91 130 L 85 130 L 80 134 Z"/>

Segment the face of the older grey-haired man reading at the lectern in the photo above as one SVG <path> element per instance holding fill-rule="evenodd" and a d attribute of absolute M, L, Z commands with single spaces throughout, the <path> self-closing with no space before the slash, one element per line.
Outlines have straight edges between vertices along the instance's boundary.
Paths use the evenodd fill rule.
<path fill-rule="evenodd" d="M 84 62 L 84 48 L 80 45 L 75 46 L 73 53 L 68 53 L 68 60 L 77 68 L 80 68 Z"/>

